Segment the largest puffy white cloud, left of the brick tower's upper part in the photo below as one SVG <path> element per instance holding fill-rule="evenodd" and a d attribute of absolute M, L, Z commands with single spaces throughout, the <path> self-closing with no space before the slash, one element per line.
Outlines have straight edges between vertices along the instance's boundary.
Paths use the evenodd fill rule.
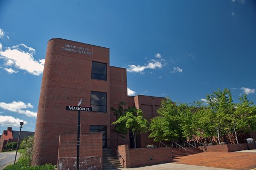
<path fill-rule="evenodd" d="M 40 75 L 43 73 L 45 60 L 36 61 L 33 54 L 35 54 L 35 49 L 28 47 L 25 44 L 12 46 L 11 48 L 7 47 L 5 50 L 0 50 L 0 58 L 5 60 L 5 65 L 15 67 L 19 70 L 25 70 L 33 75 Z M 5 70 L 10 71 L 10 69 L 11 68 L 9 68 L 9 70 Z"/>

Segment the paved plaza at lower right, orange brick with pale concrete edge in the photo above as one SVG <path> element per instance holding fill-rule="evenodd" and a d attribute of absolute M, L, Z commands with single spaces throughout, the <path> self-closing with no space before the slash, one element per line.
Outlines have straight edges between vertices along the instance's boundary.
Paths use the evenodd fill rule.
<path fill-rule="evenodd" d="M 177 157 L 172 163 L 145 166 L 138 168 L 129 168 L 136 170 L 256 170 L 256 149 L 243 150 L 237 152 L 203 152 L 201 154 Z"/>

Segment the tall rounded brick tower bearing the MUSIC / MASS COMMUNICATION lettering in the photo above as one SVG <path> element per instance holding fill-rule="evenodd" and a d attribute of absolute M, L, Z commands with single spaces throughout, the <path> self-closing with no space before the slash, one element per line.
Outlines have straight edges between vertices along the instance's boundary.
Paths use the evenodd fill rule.
<path fill-rule="evenodd" d="M 97 69 L 101 63 L 105 65 L 105 72 L 98 74 L 96 70 L 92 75 L 93 67 Z M 127 98 L 126 70 L 121 70 L 125 75 L 121 96 Z M 105 138 L 109 139 L 109 71 L 109 48 L 60 38 L 49 40 L 36 120 L 33 165 L 57 164 L 60 132 L 77 133 L 77 112 L 66 111 L 66 106 L 76 106 L 79 98 L 83 98 L 81 106 L 95 103 L 94 112 L 81 112 L 81 133 L 90 132 L 90 125 L 100 125 L 106 127 Z M 104 96 L 99 97 L 102 94 Z"/>

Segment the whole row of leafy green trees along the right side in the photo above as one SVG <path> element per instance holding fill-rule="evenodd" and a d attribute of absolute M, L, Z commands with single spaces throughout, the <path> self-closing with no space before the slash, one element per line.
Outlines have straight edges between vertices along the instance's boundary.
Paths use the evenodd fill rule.
<path fill-rule="evenodd" d="M 218 137 L 220 144 L 222 136 L 234 133 L 238 143 L 237 131 L 250 134 L 256 131 L 254 103 L 247 95 L 239 100 L 240 103 L 234 104 L 227 88 L 206 95 L 205 103 L 177 104 L 166 98 L 157 110 L 159 116 L 150 120 L 149 137 L 154 141 Z"/>

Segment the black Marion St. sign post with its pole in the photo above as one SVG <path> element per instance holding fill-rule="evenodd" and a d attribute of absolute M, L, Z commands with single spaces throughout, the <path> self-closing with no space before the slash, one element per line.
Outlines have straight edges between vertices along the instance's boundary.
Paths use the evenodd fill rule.
<path fill-rule="evenodd" d="M 83 98 L 79 100 L 77 106 L 66 106 L 67 111 L 78 111 L 78 120 L 77 120 L 77 154 L 76 154 L 76 169 L 79 169 L 79 151 L 80 151 L 80 112 L 87 111 L 91 112 L 92 107 L 81 107 Z"/>

